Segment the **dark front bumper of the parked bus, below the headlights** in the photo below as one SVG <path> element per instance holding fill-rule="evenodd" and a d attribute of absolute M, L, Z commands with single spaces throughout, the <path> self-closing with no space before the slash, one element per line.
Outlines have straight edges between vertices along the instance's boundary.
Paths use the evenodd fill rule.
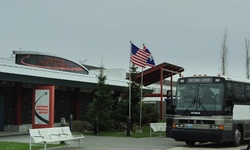
<path fill-rule="evenodd" d="M 172 138 L 176 141 L 229 142 L 232 141 L 233 134 L 230 131 L 221 130 L 173 129 Z"/>

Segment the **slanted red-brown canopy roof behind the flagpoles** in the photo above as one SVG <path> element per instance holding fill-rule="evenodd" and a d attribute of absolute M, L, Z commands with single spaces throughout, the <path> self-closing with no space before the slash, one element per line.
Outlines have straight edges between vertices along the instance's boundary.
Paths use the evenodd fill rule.
<path fill-rule="evenodd" d="M 143 71 L 143 85 L 148 86 L 150 84 L 161 81 L 162 79 L 174 76 L 176 74 L 181 74 L 184 71 L 184 68 L 169 64 L 169 63 L 161 63 L 153 68 Z M 141 83 L 142 73 L 137 74 L 136 81 L 137 83 Z"/>

